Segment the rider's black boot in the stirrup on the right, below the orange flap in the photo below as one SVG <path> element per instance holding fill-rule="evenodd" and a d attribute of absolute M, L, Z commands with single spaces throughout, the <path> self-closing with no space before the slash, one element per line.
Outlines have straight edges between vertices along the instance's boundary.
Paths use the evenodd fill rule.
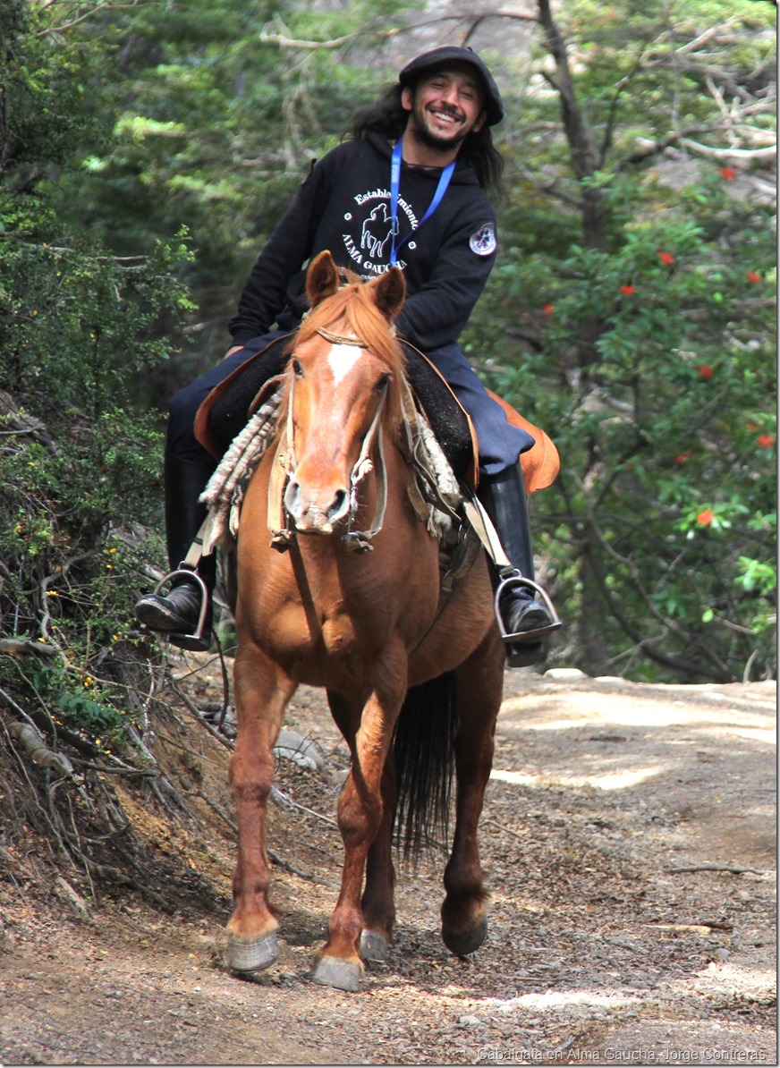
<path fill-rule="evenodd" d="M 537 600 L 533 586 L 533 550 L 528 520 L 528 500 L 519 465 L 497 475 L 481 475 L 477 491 L 496 528 L 511 570 L 499 572 L 490 566 L 490 579 L 499 591 L 497 611 L 510 664 L 522 668 L 536 663 L 545 655 L 545 639 L 561 624 L 544 600 Z M 502 584 L 503 583 L 503 584 Z"/>

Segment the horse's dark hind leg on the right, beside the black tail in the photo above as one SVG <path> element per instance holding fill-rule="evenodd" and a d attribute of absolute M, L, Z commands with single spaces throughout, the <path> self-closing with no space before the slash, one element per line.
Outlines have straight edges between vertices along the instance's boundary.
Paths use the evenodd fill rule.
<path fill-rule="evenodd" d="M 458 727 L 455 737 L 455 833 L 444 869 L 441 938 L 458 957 L 487 936 L 487 892 L 477 827 L 493 768 L 496 720 L 501 707 L 504 650 L 493 632 L 455 672 Z"/>

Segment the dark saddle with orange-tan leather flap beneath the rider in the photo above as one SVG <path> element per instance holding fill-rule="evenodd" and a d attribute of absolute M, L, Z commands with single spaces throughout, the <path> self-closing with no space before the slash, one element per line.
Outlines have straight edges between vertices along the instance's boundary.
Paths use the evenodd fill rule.
<path fill-rule="evenodd" d="M 250 357 L 215 387 L 201 405 L 194 435 L 215 459 L 220 460 L 224 456 L 246 426 L 253 402 L 265 383 L 284 371 L 293 336 L 291 333 L 279 337 Z M 479 445 L 468 413 L 431 360 L 407 342 L 403 347 L 411 392 L 456 478 L 475 489 Z M 503 408 L 509 422 L 533 438 L 533 445 L 518 457 L 527 492 L 533 493 L 549 486 L 560 468 L 555 444 L 544 430 L 530 423 L 505 400 L 493 392 L 490 395 Z"/>

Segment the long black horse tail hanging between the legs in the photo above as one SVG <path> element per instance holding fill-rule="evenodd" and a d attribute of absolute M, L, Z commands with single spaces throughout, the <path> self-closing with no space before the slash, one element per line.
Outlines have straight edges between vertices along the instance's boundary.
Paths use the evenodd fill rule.
<path fill-rule="evenodd" d="M 455 676 L 447 672 L 411 687 L 401 709 L 392 742 L 395 764 L 396 845 L 416 862 L 423 846 L 450 839 L 450 801 L 457 729 Z"/>

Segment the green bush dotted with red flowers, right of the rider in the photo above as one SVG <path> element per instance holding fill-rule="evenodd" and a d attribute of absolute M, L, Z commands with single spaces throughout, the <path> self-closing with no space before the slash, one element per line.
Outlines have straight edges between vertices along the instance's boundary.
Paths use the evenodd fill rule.
<path fill-rule="evenodd" d="M 536 342 L 487 356 L 562 455 L 537 549 L 590 671 L 775 672 L 774 241 L 708 170 L 662 209 L 635 182 L 630 215 L 607 185 L 608 251 L 518 251 L 488 298 Z"/>

